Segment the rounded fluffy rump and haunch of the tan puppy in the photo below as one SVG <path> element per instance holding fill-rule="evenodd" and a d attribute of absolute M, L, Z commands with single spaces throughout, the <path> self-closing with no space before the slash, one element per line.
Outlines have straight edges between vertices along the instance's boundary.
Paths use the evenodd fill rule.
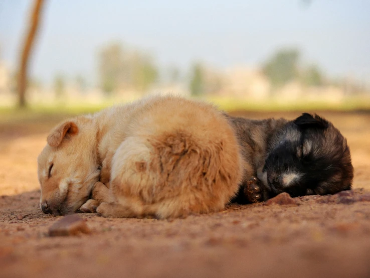
<path fill-rule="evenodd" d="M 108 215 L 125 217 L 130 211 L 164 218 L 219 211 L 237 192 L 242 174 L 237 140 L 212 105 L 152 98 L 141 103 L 126 128 L 111 172 L 121 209 Z"/>

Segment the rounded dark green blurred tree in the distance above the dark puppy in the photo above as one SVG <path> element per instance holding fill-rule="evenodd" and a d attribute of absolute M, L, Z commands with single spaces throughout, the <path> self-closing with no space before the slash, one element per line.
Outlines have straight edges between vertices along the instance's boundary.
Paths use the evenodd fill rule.
<path fill-rule="evenodd" d="M 280 50 L 263 65 L 262 70 L 273 87 L 280 87 L 299 77 L 299 56 L 295 49 Z"/>

